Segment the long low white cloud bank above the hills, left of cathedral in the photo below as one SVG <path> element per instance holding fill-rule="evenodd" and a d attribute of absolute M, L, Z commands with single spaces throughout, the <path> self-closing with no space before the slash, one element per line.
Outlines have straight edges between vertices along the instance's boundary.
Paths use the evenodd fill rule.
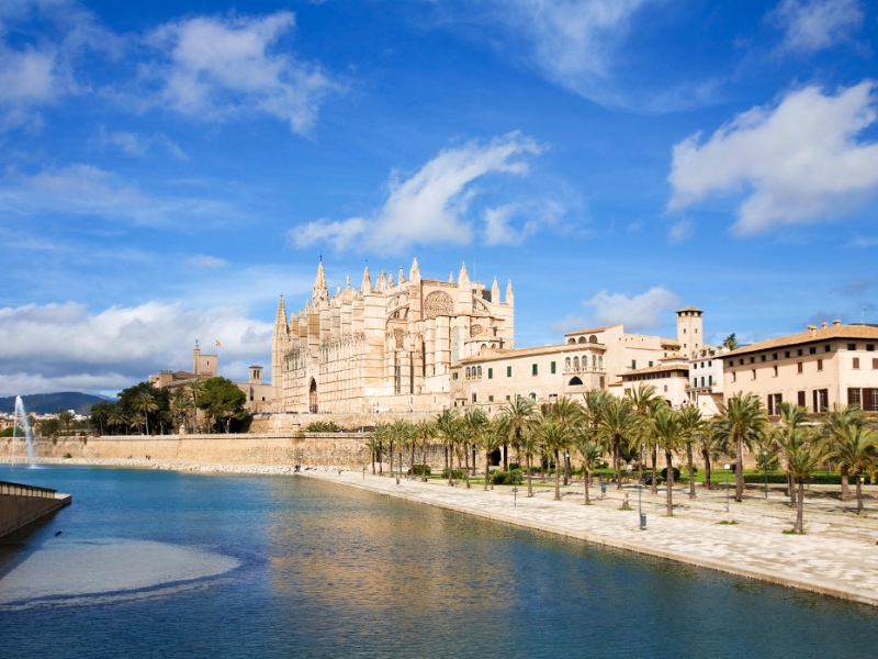
<path fill-rule="evenodd" d="M 0 395 L 112 392 L 161 368 L 191 370 L 196 339 L 205 348 L 221 340 L 219 372 L 240 380 L 246 362 L 268 364 L 272 331 L 237 308 L 147 302 L 97 314 L 74 302 L 0 308 Z"/>

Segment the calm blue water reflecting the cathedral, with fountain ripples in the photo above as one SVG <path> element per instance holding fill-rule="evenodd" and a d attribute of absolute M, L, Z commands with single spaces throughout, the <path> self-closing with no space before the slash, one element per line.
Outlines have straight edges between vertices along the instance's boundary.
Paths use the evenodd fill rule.
<path fill-rule="evenodd" d="M 304 478 L 0 480 L 74 494 L 0 541 L 3 657 L 866 657 L 878 643 L 866 606 Z"/>

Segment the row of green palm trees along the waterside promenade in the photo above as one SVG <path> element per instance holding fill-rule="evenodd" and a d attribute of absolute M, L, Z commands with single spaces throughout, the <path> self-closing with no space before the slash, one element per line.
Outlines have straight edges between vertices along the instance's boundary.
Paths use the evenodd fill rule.
<path fill-rule="evenodd" d="M 446 410 L 431 422 L 379 424 L 368 447 L 374 462 L 390 456 L 403 473 L 405 453 L 410 453 L 414 466 L 416 448 L 421 463 L 438 442 L 443 447 L 448 484 L 454 484 L 454 459 L 465 474 L 475 472 L 475 451 L 485 455 L 485 489 L 489 487 L 489 457 L 503 450 L 503 467 L 507 469 L 508 448 L 524 461 L 528 496 L 532 496 L 532 474 L 536 459 L 554 465 L 555 499 L 561 499 L 564 484 L 571 478 L 571 451 L 578 454 L 583 467 L 584 500 L 589 503 L 588 485 L 595 467 L 608 456 L 617 488 L 622 488 L 622 462 L 637 461 L 639 477 L 644 479 L 646 456 L 651 457 L 652 492 L 657 494 L 658 462 L 666 465 L 666 511 L 673 514 L 674 456 L 685 455 L 689 473 L 689 498 L 696 498 L 695 454 L 705 463 L 705 485 L 712 487 L 712 465 L 722 456 L 735 462 L 735 501 L 744 492 L 744 456 L 746 451 L 770 449 L 783 455 L 788 474 L 790 505 L 797 507 L 796 530 L 802 526 L 802 489 L 814 471 L 831 463 L 842 472 L 842 499 L 848 499 L 848 478 L 856 482 L 857 511 L 863 512 L 860 477 L 878 466 L 878 434 L 870 427 L 867 415 L 856 406 L 837 407 L 819 420 L 809 421 L 806 410 L 789 403 L 779 405 L 780 421 L 770 423 L 762 401 L 753 394 L 731 399 L 722 413 L 709 422 L 695 406 L 673 409 L 656 395 L 655 388 L 641 384 L 623 398 L 595 390 L 584 401 L 562 398 L 548 405 L 537 406 L 528 398 L 507 401 L 499 413 L 489 420 L 484 412 L 471 409 L 464 415 Z M 398 460 L 396 459 L 398 458 Z M 470 459 L 472 458 L 472 467 Z M 380 466 L 379 469 L 382 469 Z M 414 470 L 413 470 L 414 472 Z M 541 473 L 544 473 L 541 470 Z"/>

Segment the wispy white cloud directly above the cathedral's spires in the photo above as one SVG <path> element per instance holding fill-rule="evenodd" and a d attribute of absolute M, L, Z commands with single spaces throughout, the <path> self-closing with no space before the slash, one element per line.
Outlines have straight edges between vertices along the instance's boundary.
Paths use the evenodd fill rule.
<path fill-rule="evenodd" d="M 408 179 L 401 181 L 393 172 L 387 201 L 374 217 L 319 220 L 292 230 L 290 235 L 300 247 L 328 241 L 337 249 L 357 245 L 393 252 L 416 244 L 466 245 L 473 232 L 465 214 L 477 194 L 471 183 L 488 174 L 526 175 L 525 158 L 541 152 L 534 141 L 519 133 L 496 137 L 487 145 L 473 141 L 448 148 Z M 505 221 L 495 217 L 493 226 L 488 221 L 489 236 L 509 235 L 508 227 L 497 228 L 505 226 Z"/>

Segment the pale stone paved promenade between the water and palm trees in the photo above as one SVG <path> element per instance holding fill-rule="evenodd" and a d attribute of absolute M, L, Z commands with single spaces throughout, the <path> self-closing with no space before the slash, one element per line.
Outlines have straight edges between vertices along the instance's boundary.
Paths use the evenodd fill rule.
<path fill-rule="evenodd" d="M 582 482 L 563 489 L 556 502 L 554 488 L 537 489 L 533 498 L 519 488 L 482 485 L 466 490 L 461 483 L 401 480 L 363 476 L 362 472 L 307 471 L 318 478 L 567 537 L 679 560 L 793 588 L 831 594 L 878 606 L 878 505 L 870 493 L 871 517 L 844 510 L 855 502 L 840 502 L 829 495 L 831 488 L 812 488 L 806 498 L 804 535 L 785 534 L 792 528 L 796 511 L 780 489 L 763 499 L 762 488 L 747 490 L 742 503 L 732 499 L 725 512 L 725 490 L 698 488 L 695 500 L 688 488 L 674 490 L 674 517 L 665 516 L 665 494 L 643 490 L 646 530 L 640 530 L 637 487 L 622 492 L 608 484 L 607 495 L 593 487 L 593 505 L 583 505 Z M 869 488 L 873 490 L 874 488 Z M 836 488 L 837 490 L 837 488 Z M 627 493 L 631 511 L 619 510 Z M 595 499 L 595 496 L 598 499 Z M 721 522 L 735 524 L 720 524 Z"/>

